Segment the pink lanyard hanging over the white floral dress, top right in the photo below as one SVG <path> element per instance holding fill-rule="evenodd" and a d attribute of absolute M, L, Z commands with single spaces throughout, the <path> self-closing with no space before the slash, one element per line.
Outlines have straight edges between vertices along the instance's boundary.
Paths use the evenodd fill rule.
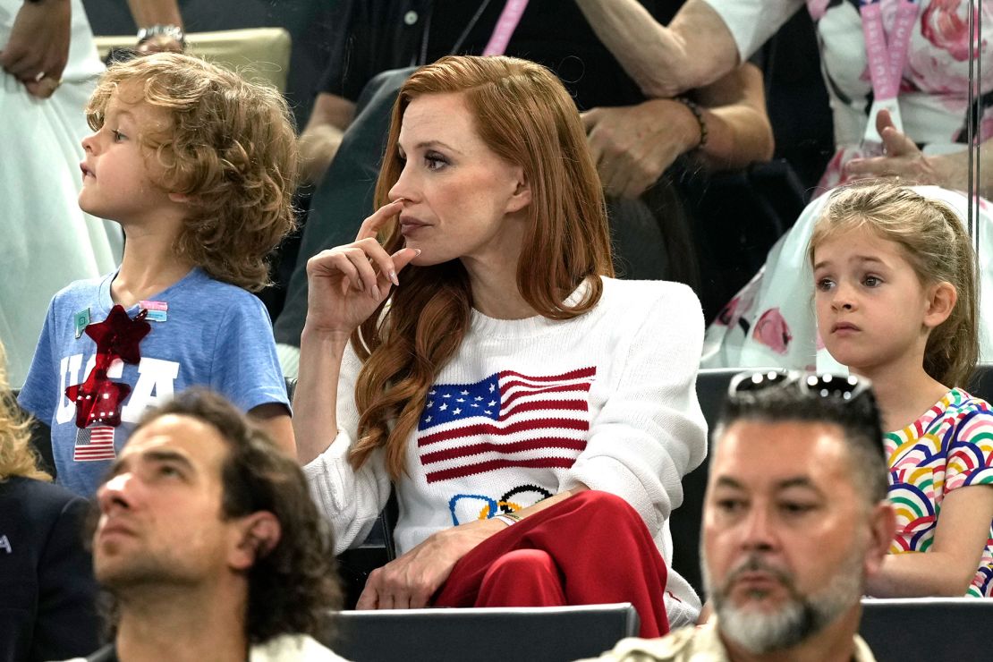
<path fill-rule="evenodd" d="M 862 16 L 862 33 L 866 41 L 866 58 L 869 64 L 869 77 L 872 80 L 873 104 L 869 111 L 864 140 L 880 143 L 882 139 L 876 131 L 876 115 L 880 110 L 890 111 L 897 129 L 903 131 L 900 118 L 900 81 L 907 66 L 907 51 L 914 34 L 914 24 L 920 9 L 917 0 L 900 0 L 893 33 L 888 40 L 883 28 L 883 12 L 880 0 L 859 0 L 859 14 Z"/>

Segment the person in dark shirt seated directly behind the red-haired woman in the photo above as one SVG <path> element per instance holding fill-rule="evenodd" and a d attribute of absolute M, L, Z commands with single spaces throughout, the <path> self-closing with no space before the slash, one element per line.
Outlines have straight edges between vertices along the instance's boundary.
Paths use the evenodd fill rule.
<path fill-rule="evenodd" d="M 678 4 L 672 0 L 645 1 L 659 20 L 670 17 Z M 376 73 L 433 62 L 450 53 L 481 54 L 502 7 L 501 2 L 340 3 L 332 59 L 301 136 L 310 177 L 318 180 L 328 168 L 343 131 L 351 125 L 359 93 Z M 720 271 L 725 263 L 708 271 L 701 285 L 698 262 L 710 259 L 708 242 L 713 238 L 703 221 L 699 227 L 695 223 L 696 198 L 685 198 L 668 180 L 649 186 L 659 181 L 681 154 L 688 155 L 686 170 L 690 173 L 704 166 L 738 168 L 769 158 L 772 133 L 759 70 L 746 65 L 714 85 L 696 90 L 696 111 L 677 100 L 648 101 L 571 1 L 528 4 L 506 54 L 549 66 L 581 110 L 593 109 L 585 120 L 591 146 L 600 159 L 608 193 L 618 196 L 609 199 L 609 213 L 614 218 L 611 231 L 619 273 L 632 279 L 670 278 L 691 284 L 704 299 L 705 309 L 715 314 L 744 281 L 726 286 Z M 700 120 L 695 112 L 700 113 Z M 702 145 L 701 122 L 707 134 Z M 666 131 L 659 131 L 663 126 Z M 356 143 L 356 131 L 374 135 Z M 315 194 L 286 306 L 275 324 L 288 374 L 296 372 L 295 348 L 306 314 L 306 259 L 355 236 L 370 208 L 371 182 L 384 132 L 384 123 L 364 118 L 351 133 L 351 149 L 361 145 L 367 153 L 358 159 L 363 168 L 350 162 L 345 172 L 339 170 L 334 175 L 337 181 L 322 181 Z M 354 154 L 348 156 L 355 160 Z M 363 172 L 356 174 L 357 170 Z M 775 236 L 778 234 L 766 245 L 772 244 Z M 736 247 L 728 261 L 741 255 Z"/>

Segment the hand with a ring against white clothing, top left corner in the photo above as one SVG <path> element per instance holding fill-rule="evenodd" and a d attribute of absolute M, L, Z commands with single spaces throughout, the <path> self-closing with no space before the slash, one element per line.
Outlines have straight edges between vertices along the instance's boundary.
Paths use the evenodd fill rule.
<path fill-rule="evenodd" d="M 51 96 L 69 62 L 70 23 L 69 0 L 25 2 L 0 52 L 0 66 L 34 96 Z"/>

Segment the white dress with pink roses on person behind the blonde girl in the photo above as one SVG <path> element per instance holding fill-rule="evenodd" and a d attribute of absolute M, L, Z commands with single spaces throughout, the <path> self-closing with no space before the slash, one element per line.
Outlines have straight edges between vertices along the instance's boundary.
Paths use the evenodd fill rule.
<path fill-rule="evenodd" d="M 731 30 L 743 58 L 779 29 L 804 4 L 814 20 L 822 69 L 830 97 L 837 152 L 828 164 L 819 192 L 843 183 L 842 169 L 866 156 L 861 145 L 872 102 L 865 38 L 854 0 L 707 0 Z M 882 0 L 887 35 L 898 0 Z M 921 0 L 904 67 L 899 100 L 904 131 L 925 153 L 965 149 L 968 111 L 967 9 L 970 3 Z M 993 4 L 981 5 L 982 25 L 993 26 Z M 985 41 L 985 40 L 984 40 Z M 993 91 L 993 58 L 982 50 L 982 91 Z M 981 140 L 993 137 L 991 99 L 978 103 Z M 993 143 L 982 149 L 993 149 Z M 989 174 L 986 174 L 989 177 Z M 942 199 L 966 217 L 964 194 L 921 187 L 922 195 Z M 707 330 L 704 367 L 781 366 L 838 369 L 817 339 L 813 312 L 813 276 L 807 264 L 810 232 L 826 195 L 814 199 L 793 227 L 773 246 L 766 264 L 727 304 Z M 993 207 L 979 199 L 980 217 L 980 358 L 993 360 Z"/>

